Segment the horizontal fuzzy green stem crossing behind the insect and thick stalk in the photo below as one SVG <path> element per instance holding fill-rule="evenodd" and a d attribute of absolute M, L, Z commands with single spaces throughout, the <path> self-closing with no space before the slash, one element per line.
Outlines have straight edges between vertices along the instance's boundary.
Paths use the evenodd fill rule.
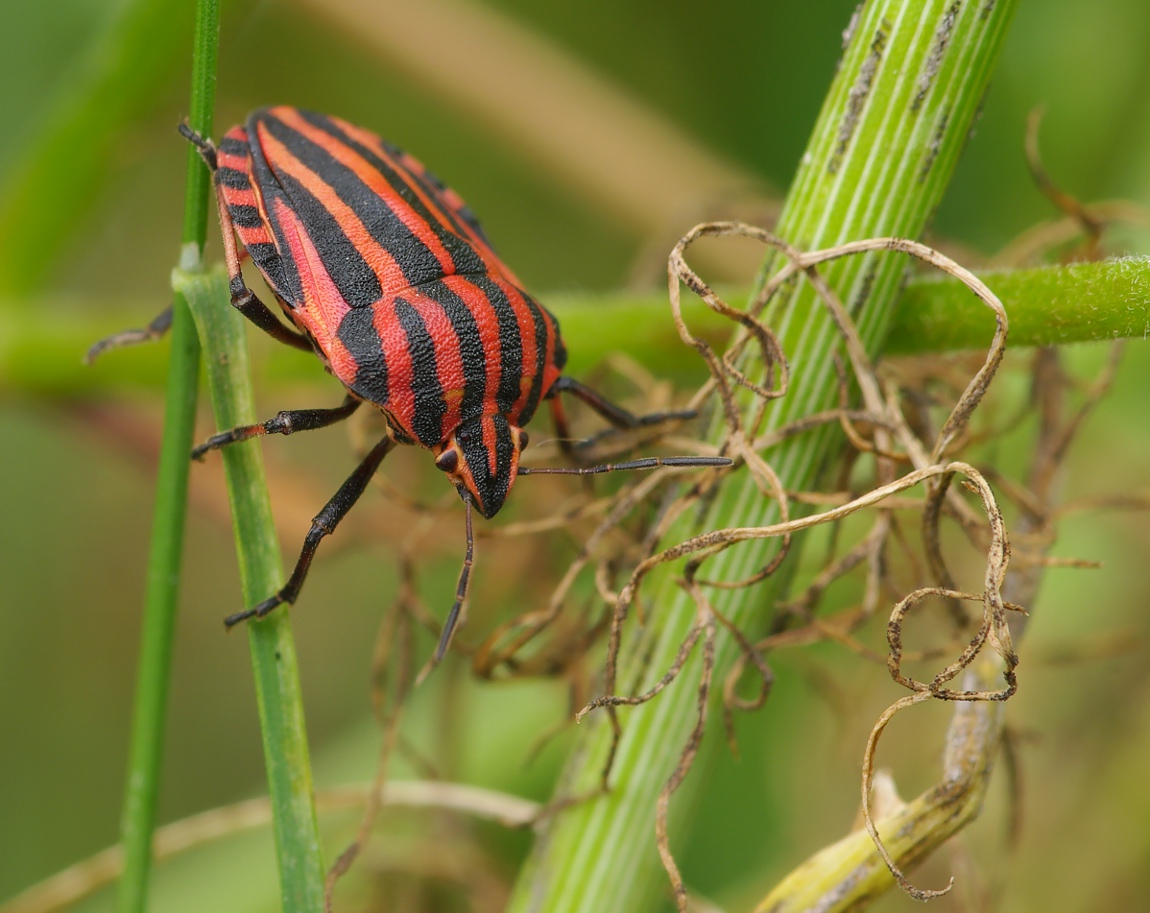
<path fill-rule="evenodd" d="M 1064 345 L 1102 339 L 1143 338 L 1150 328 L 1150 258 L 1122 258 L 977 274 L 990 283 L 1010 315 L 1011 347 Z M 724 297 L 738 304 L 746 292 Z M 620 348 L 660 375 L 682 371 L 683 347 L 669 319 L 667 293 L 542 296 L 564 330 L 568 373 L 581 376 Z M 107 301 L 31 305 L 0 302 L 0 388 L 43 396 L 94 397 L 109 390 L 158 386 L 164 377 L 162 352 L 140 346 L 97 367 L 76 353 L 113 329 L 139 321 L 143 308 Z M 60 315 L 67 313 L 67 320 Z M 683 301 L 696 332 L 720 344 L 730 322 L 702 301 Z M 984 346 L 991 329 L 986 308 L 965 285 L 950 278 L 907 282 L 891 317 L 887 353 L 915 355 Z M 330 384 L 315 361 L 274 347 L 262 376 L 292 383 L 313 378 Z"/>

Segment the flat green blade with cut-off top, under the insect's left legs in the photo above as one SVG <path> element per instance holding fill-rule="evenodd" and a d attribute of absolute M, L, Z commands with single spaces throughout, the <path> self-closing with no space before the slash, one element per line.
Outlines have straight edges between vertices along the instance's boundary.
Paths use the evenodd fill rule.
<path fill-rule="evenodd" d="M 245 321 L 228 304 L 227 276 L 222 270 L 210 275 L 177 270 L 172 285 L 186 297 L 200 331 L 216 424 L 233 428 L 254 423 Z M 259 439 L 232 444 L 221 455 L 236 535 L 243 606 L 252 606 L 283 585 Z M 221 606 L 221 617 L 237 607 Z M 319 913 L 323 908 L 323 857 L 288 608 L 278 608 L 245 627 L 255 675 L 283 910 Z"/>

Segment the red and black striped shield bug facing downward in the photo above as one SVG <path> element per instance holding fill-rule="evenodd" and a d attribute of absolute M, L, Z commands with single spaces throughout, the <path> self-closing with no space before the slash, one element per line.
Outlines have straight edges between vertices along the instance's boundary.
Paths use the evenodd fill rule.
<path fill-rule="evenodd" d="M 435 661 L 448 646 L 467 596 L 471 507 L 494 516 L 516 475 L 730 463 L 678 456 L 520 468 L 528 443 L 523 427 L 544 400 L 570 453 L 559 393 L 572 393 L 624 429 L 688 414 L 636 417 L 565 377 L 559 324 L 496 256 L 466 204 L 374 133 L 290 107 L 254 112 L 224 135 L 218 148 L 186 125 L 181 132 L 214 175 L 232 305 L 276 339 L 314 351 L 347 389 L 335 408 L 281 412 L 261 424 L 215 435 L 192 455 L 256 435 L 323 428 L 362 402 L 383 413 L 390 431 L 315 517 L 286 585 L 228 617 L 229 626 L 296 600 L 320 540 L 397 443 L 431 451 L 466 506 L 466 558 Z M 240 274 L 244 255 L 294 329 L 247 287 Z"/>

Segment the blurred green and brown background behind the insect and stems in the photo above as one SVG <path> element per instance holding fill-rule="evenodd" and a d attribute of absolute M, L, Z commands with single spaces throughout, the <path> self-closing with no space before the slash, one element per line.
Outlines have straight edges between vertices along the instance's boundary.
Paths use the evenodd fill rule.
<path fill-rule="evenodd" d="M 802 153 L 852 8 L 842 0 L 413 8 L 237 0 L 224 7 L 217 133 L 264 103 L 337 114 L 413 152 L 459 190 L 544 300 L 659 284 L 666 251 L 695 222 L 767 217 Z M 143 323 L 168 300 L 177 254 L 185 149 L 175 124 L 186 108 L 190 10 L 54 0 L 8 5 L 3 20 L 0 315 L 51 325 L 107 314 L 105 331 L 125 315 Z M 126 45 L 117 44 L 125 33 Z M 1064 189 L 1084 200 L 1150 202 L 1148 46 L 1150 6 L 1140 0 L 1023 3 L 935 239 L 977 263 L 1055 215 L 1023 160 L 1035 106 L 1046 112 L 1044 161 Z M 460 75 L 468 68 L 474 80 Z M 53 137 L 70 137 L 59 161 Z M 34 175 L 45 162 L 55 162 L 49 186 L 24 200 L 26 187 L 41 186 Z M 1117 252 L 1145 253 L 1147 241 L 1145 232 L 1127 231 L 1113 243 Z M 215 238 L 209 256 L 218 256 Z M 716 262 L 714 277 L 745 282 L 753 262 L 753 253 L 743 271 Z M 262 412 L 338 400 L 319 366 L 306 385 L 261 376 L 261 352 L 262 342 Z M 1081 346 L 1071 355 L 1088 375 L 1103 353 Z M 90 369 L 99 394 L 0 371 L 0 898 L 116 839 L 160 397 L 130 383 L 109 393 L 102 381 L 130 377 L 154 358 L 108 356 Z M 1004 388 L 1023 396 L 1025 378 Z M 1150 352 L 1136 342 L 1075 448 L 1067 497 L 1147 491 L 1148 389 Z M 210 430 L 205 414 L 200 435 Z M 1020 465 L 1025 444 L 1003 442 L 996 455 Z M 307 519 L 351 467 L 347 437 L 274 440 L 266 454 L 284 552 L 293 555 Z M 389 458 L 389 478 L 422 485 L 421 455 Z M 262 793 L 245 638 L 224 636 L 220 623 L 239 606 L 217 470 L 193 473 L 162 821 Z M 511 517 L 539 513 L 522 489 Z M 429 548 L 432 611 L 453 585 L 459 520 L 447 512 Z M 339 542 L 324 546 L 293 613 L 320 785 L 373 770 L 371 642 L 396 591 L 391 555 L 405 522 L 369 496 Z M 1009 708 L 1019 842 L 1009 850 L 999 778 L 963 849 L 917 877 L 937 887 L 958 872 L 956 895 L 935 908 L 986 908 L 999 892 L 1002 908 L 1017 911 L 1137 908 L 1150 893 L 1148 531 L 1136 513 L 1067 522 L 1057 553 L 1105 567 L 1051 571 L 1035 606 L 1021 690 Z M 561 560 L 515 543 L 480 547 L 471 639 L 542 598 Z M 688 883 L 733 911 L 850 827 L 866 731 L 897 697 L 883 669 L 831 645 L 783 653 L 773 665 L 770 703 L 739 721 L 742 757 L 724 755 L 710 772 L 683 835 Z M 946 720 L 943 707 L 917 713 L 895 724 L 882 758 L 906 796 L 931 782 Z M 421 689 L 407 724 L 442 773 L 544 798 L 564 741 L 526 759 L 565 719 L 561 684 L 468 685 L 459 663 Z M 397 818 L 400 836 L 389 839 L 415 846 L 422 831 L 400 827 L 412 820 Z M 332 850 L 351 826 L 325 823 Z M 460 830 L 440 834 L 440 845 L 462 846 Z M 491 858 L 471 865 L 507 876 L 527 837 L 489 836 Z M 273 865 L 267 834 L 190 853 L 159 868 L 156 908 L 277 908 Z M 106 908 L 108 897 L 89 908 Z M 451 903 L 442 908 L 457 908 Z M 902 897 L 882 904 L 911 908 Z"/>

